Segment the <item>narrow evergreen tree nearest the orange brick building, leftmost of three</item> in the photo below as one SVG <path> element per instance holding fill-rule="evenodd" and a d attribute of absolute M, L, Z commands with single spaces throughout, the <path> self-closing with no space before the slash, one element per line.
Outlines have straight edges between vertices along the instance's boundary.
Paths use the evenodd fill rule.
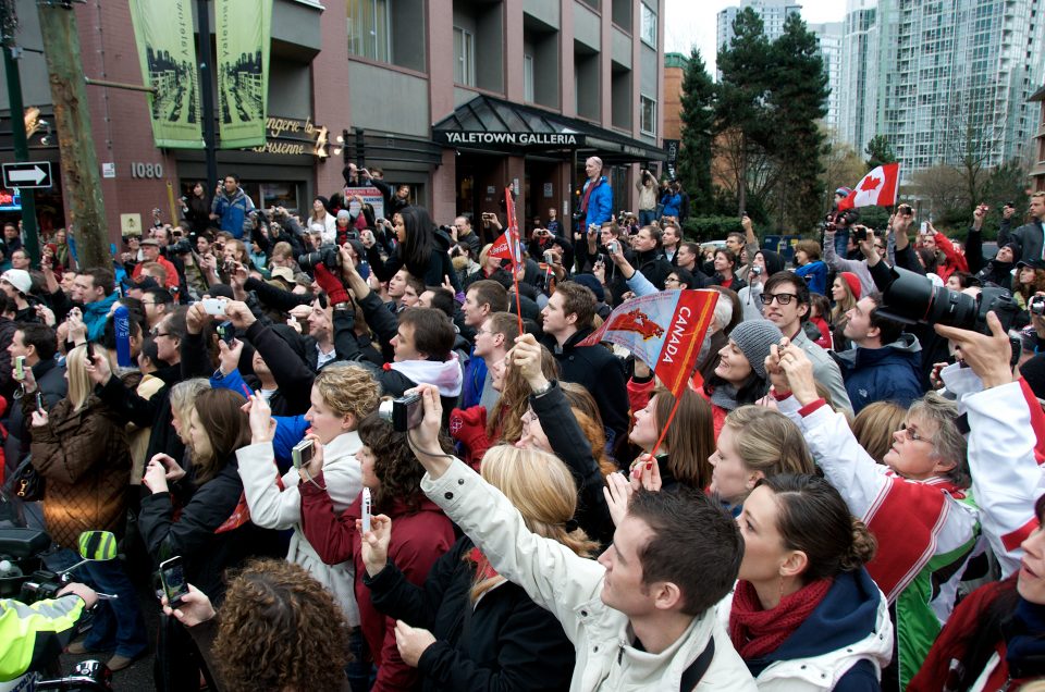
<path fill-rule="evenodd" d="M 715 126 L 715 85 L 696 48 L 683 75 L 683 140 L 678 152 L 678 177 L 689 193 L 690 215 L 711 213 L 711 144 Z M 696 213 L 694 213 L 696 212 Z"/>

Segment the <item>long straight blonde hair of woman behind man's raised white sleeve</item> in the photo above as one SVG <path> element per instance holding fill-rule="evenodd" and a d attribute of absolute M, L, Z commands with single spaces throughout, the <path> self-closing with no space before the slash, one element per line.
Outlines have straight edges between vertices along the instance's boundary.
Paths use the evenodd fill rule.
<path fill-rule="evenodd" d="M 494 445 L 482 457 L 482 478 L 504 493 L 537 535 L 558 541 L 581 557 L 590 557 L 598 549 L 583 529 L 569 530 L 566 526 L 577 511 L 577 485 L 554 454 Z M 465 559 L 471 558 L 466 555 Z M 503 581 L 500 574 L 483 578 L 478 570 L 471 586 L 472 603 Z"/>

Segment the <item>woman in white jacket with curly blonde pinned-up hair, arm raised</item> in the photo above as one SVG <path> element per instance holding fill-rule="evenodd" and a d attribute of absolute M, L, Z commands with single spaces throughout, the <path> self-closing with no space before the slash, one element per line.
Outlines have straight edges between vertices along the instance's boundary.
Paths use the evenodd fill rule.
<path fill-rule="evenodd" d="M 370 374 L 358 366 L 329 366 L 312 384 L 311 407 L 305 420 L 310 437 L 323 446 L 323 482 L 334 509 L 344 511 L 362 490 L 362 468 L 356 453 L 362 446 L 356 428 L 378 407 L 380 390 Z M 327 586 L 345 611 L 352 627 L 359 625 L 354 595 L 352 561 L 325 565 L 302 531 L 302 497 L 297 469 L 280 477 L 272 437 L 275 421 L 265 400 L 250 397 L 251 444 L 236 450 L 239 477 L 250 508 L 250 520 L 267 529 L 294 529 L 286 559 L 307 569 Z"/>

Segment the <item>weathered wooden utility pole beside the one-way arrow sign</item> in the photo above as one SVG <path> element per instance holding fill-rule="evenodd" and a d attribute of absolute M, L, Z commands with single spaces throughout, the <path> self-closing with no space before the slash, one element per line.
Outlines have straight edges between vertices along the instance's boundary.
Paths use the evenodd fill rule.
<path fill-rule="evenodd" d="M 109 223 L 101 197 L 101 175 L 72 4 L 72 0 L 38 0 L 37 12 L 79 265 L 110 267 Z"/>

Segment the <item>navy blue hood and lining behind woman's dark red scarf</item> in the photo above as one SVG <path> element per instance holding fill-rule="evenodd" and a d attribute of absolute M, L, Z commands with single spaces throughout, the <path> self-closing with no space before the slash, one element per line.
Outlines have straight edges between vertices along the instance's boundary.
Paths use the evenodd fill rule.
<path fill-rule="evenodd" d="M 850 647 L 880 629 L 881 602 L 882 592 L 865 569 L 841 572 L 820 605 L 776 651 L 745 663 L 751 675 L 758 677 L 776 662 L 809 659 Z M 874 656 L 871 652 L 841 676 L 835 692 L 880 689 L 878 672 L 871 660 Z"/>

